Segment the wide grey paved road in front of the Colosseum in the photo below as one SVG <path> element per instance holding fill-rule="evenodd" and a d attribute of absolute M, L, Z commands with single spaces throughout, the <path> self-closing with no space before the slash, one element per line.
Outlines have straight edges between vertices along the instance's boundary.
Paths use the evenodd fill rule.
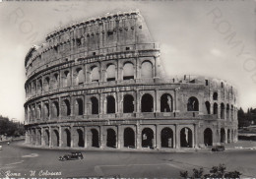
<path fill-rule="evenodd" d="M 192 171 L 224 163 L 227 170 L 238 170 L 243 177 L 256 176 L 256 150 L 224 152 L 113 152 L 83 151 L 83 160 L 59 161 L 67 150 L 22 148 L 22 142 L 3 145 L 0 150 L 0 178 L 16 177 L 179 177 L 179 171 Z M 17 177 L 18 178 L 18 177 Z"/>

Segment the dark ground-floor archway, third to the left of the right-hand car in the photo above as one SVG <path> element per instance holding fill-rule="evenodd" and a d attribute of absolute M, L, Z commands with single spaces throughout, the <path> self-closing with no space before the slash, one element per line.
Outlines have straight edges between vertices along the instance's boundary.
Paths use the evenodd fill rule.
<path fill-rule="evenodd" d="M 170 128 L 163 128 L 160 132 L 160 147 L 173 148 L 173 132 Z"/>

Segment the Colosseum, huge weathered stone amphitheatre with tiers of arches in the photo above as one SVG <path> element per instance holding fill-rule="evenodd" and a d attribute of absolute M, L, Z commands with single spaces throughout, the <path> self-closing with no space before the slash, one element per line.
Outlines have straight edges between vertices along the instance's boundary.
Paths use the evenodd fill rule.
<path fill-rule="evenodd" d="M 237 91 L 170 78 L 138 11 L 55 30 L 25 59 L 26 143 L 54 149 L 185 149 L 237 141 Z"/>

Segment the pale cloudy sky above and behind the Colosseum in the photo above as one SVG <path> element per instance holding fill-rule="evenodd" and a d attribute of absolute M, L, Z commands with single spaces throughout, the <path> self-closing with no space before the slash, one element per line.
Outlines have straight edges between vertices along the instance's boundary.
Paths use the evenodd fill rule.
<path fill-rule="evenodd" d="M 170 76 L 224 79 L 239 106 L 256 107 L 256 1 L 50 1 L 0 3 L 0 114 L 24 120 L 24 59 L 32 44 L 68 24 L 139 9 Z"/>

